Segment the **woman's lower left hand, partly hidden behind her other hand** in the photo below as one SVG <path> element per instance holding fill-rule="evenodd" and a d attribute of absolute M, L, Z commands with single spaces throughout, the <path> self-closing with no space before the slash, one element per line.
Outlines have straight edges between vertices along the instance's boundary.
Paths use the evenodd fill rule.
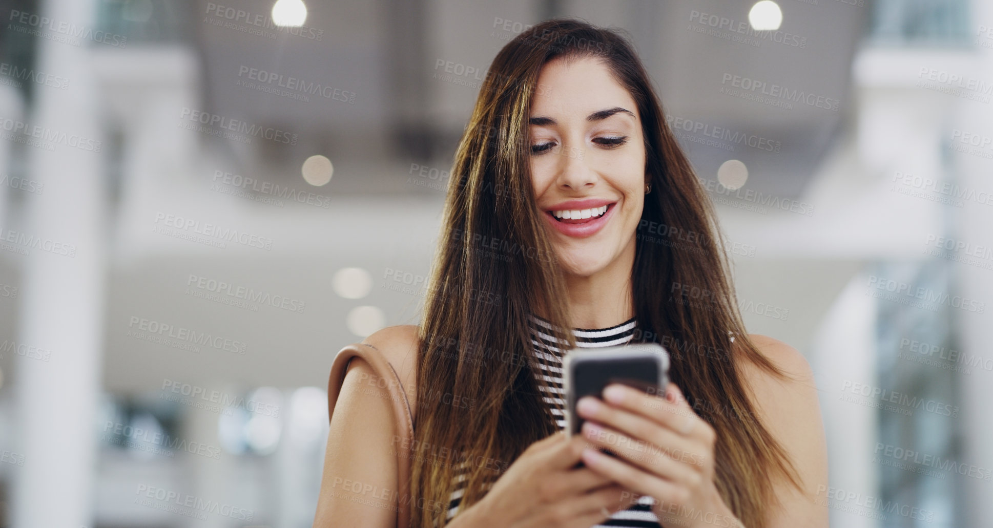
<path fill-rule="evenodd" d="M 579 466 L 596 451 L 582 436 L 559 432 L 527 447 L 490 491 L 451 528 L 589 528 L 628 507 L 628 491 L 600 472 Z"/>

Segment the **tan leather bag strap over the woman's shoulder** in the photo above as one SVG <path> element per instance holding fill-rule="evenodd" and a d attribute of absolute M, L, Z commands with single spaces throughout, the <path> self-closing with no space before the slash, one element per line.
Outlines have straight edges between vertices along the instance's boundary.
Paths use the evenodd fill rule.
<path fill-rule="evenodd" d="M 407 393 L 400 383 L 400 376 L 378 348 L 370 344 L 354 343 L 342 348 L 335 355 L 335 360 L 331 364 L 331 375 L 328 378 L 328 421 L 331 421 L 335 413 L 335 403 L 342 391 L 349 362 L 355 356 L 364 359 L 376 375 L 386 381 L 399 437 L 393 439 L 396 448 L 398 486 L 396 526 L 407 528 L 410 525 L 410 446 L 414 440 L 414 421 L 410 413 L 410 401 L 407 400 Z"/>

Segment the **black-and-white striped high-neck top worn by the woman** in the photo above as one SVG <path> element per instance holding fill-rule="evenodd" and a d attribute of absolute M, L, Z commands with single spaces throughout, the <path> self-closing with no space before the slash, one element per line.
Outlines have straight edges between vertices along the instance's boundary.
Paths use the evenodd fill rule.
<path fill-rule="evenodd" d="M 555 424 L 560 430 L 564 430 L 566 427 L 566 417 L 561 409 L 566 407 L 565 391 L 562 387 L 562 356 L 565 352 L 556 346 L 554 337 L 547 333 L 547 330 L 552 328 L 551 324 L 534 316 L 529 318 L 529 323 L 531 343 L 534 345 L 537 364 L 542 371 L 541 374 L 535 373 L 535 376 L 541 376 L 550 386 L 544 387 L 539 385 L 539 389 L 546 394 L 542 399 L 555 417 Z M 573 329 L 573 335 L 576 338 L 576 346 L 580 348 L 617 346 L 631 341 L 637 327 L 638 323 L 633 318 L 607 329 Z M 452 492 L 446 522 L 450 521 L 459 512 L 459 503 L 462 500 L 462 493 L 465 490 L 466 475 L 463 471 L 464 468 L 465 464 L 456 466 L 455 468 L 454 482 L 456 483 L 456 489 Z M 489 488 L 492 485 L 493 482 L 488 482 L 485 484 L 485 488 Z M 658 523 L 658 517 L 651 511 L 651 505 L 653 503 L 654 499 L 651 497 L 642 496 L 630 508 L 614 513 L 610 519 L 604 521 L 603 524 L 595 525 L 595 527 L 661 528 L 661 525 Z"/>

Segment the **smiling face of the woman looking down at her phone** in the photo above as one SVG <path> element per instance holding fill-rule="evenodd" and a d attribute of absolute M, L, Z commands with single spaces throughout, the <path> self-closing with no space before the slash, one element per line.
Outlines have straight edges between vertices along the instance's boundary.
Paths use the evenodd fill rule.
<path fill-rule="evenodd" d="M 542 67 L 531 103 L 531 184 L 569 275 L 634 255 L 644 203 L 644 140 L 635 99 L 599 60 Z"/>

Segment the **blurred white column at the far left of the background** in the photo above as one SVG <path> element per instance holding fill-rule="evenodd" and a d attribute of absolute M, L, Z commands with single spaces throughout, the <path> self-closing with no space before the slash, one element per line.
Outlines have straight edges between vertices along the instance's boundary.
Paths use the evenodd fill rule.
<path fill-rule="evenodd" d="M 47 0 L 42 13 L 58 23 L 93 28 L 96 6 Z M 57 23 L 57 24 L 58 24 Z M 23 471 L 14 485 L 12 526 L 91 526 L 96 438 L 94 415 L 103 346 L 105 141 L 97 118 L 97 87 L 89 47 L 38 39 L 36 69 L 69 78 L 67 89 L 37 85 L 25 120 L 44 127 L 53 150 L 27 146 L 28 175 L 45 183 L 30 195 L 21 231 L 74 246 L 66 256 L 42 247 L 23 257 L 18 342 L 49 349 L 48 362 L 18 363 Z M 99 153 L 79 145 L 100 141 Z M 43 138 L 46 139 L 46 138 Z"/>

